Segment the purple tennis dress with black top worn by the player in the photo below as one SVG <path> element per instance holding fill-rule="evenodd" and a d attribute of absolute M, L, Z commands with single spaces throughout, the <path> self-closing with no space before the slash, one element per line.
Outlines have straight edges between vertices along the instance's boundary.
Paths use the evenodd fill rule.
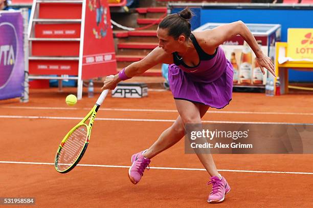
<path fill-rule="evenodd" d="M 190 39 L 200 62 L 197 66 L 190 67 L 177 52 L 173 53 L 174 64 L 168 67 L 168 80 L 174 99 L 198 102 L 217 109 L 224 108 L 232 99 L 233 66 L 221 47 L 217 47 L 213 55 L 208 55 L 193 34 L 190 34 Z"/>

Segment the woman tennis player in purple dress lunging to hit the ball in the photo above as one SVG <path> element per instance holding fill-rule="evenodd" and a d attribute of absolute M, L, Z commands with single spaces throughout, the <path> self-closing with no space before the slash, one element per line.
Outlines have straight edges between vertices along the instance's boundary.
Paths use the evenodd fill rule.
<path fill-rule="evenodd" d="M 132 155 L 128 176 L 133 184 L 140 181 L 150 159 L 184 137 L 185 124 L 201 123 L 210 107 L 221 109 L 229 104 L 234 72 L 220 44 L 233 36 L 242 36 L 254 51 L 262 73 L 265 73 L 264 67 L 275 76 L 271 59 L 262 53 L 242 21 L 191 33 L 191 17 L 192 12 L 188 8 L 166 16 L 157 30 L 159 46 L 141 61 L 130 64 L 114 78 L 107 77 L 104 81 L 103 89 L 114 89 L 120 81 L 142 74 L 159 63 L 170 64 L 169 85 L 179 116 L 149 149 Z M 209 184 L 213 188 L 208 202 L 222 202 L 230 186 L 218 173 L 211 154 L 197 153 L 197 156 L 211 176 Z"/>

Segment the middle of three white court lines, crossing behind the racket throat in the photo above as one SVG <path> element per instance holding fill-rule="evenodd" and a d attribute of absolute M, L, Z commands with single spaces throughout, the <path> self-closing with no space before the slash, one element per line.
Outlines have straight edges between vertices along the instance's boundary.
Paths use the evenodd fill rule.
<path fill-rule="evenodd" d="M 6 116 L 0 118 L 21 118 L 21 119 L 57 119 L 57 120 L 82 120 L 82 117 L 55 117 L 55 116 Z M 140 119 L 140 118 L 96 118 L 101 121 L 146 121 L 146 122 L 174 122 L 170 119 Z M 203 123 L 247 123 L 247 124 L 309 124 L 309 123 L 281 123 L 281 122 L 252 122 L 252 121 L 202 121 Z"/>

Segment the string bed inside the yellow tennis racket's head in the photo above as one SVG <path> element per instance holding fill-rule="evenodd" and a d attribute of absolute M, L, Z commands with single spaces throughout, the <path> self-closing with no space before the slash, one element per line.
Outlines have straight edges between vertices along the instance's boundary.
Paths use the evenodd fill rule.
<path fill-rule="evenodd" d="M 68 137 L 58 157 L 58 169 L 64 171 L 71 167 L 84 148 L 87 137 L 87 127 L 81 125 Z"/>

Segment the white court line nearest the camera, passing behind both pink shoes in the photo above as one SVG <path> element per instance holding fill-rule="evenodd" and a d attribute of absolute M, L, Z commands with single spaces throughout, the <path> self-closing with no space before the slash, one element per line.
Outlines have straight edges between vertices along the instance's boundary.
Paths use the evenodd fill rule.
<path fill-rule="evenodd" d="M 24 165 L 54 165 L 54 163 L 34 163 L 34 162 L 15 162 L 15 161 L 0 161 L 4 164 L 24 164 Z M 77 166 L 85 167 L 101 167 L 101 168 L 130 168 L 130 166 L 121 165 L 90 165 L 90 164 L 78 164 Z M 150 169 L 161 170 L 194 170 L 194 171 L 206 171 L 204 168 L 170 168 L 170 167 L 150 167 Z M 280 173 L 280 174 L 301 174 L 301 175 L 313 175 L 311 172 L 285 172 L 285 171 L 260 171 L 260 170 L 218 170 L 221 172 L 245 172 L 245 173 Z"/>

